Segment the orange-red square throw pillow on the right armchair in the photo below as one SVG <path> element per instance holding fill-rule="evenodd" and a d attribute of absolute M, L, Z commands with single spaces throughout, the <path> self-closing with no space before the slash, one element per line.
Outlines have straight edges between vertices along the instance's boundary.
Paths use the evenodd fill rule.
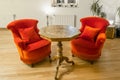
<path fill-rule="evenodd" d="M 98 28 L 92 28 L 91 26 L 86 25 L 80 37 L 86 40 L 94 41 L 99 31 L 100 30 Z"/>

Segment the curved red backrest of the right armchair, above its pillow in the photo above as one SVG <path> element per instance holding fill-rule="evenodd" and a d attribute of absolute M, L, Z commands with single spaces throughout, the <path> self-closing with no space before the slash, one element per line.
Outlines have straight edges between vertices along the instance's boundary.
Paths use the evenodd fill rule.
<path fill-rule="evenodd" d="M 106 19 L 95 16 L 82 18 L 80 19 L 80 22 L 82 24 L 80 29 L 81 32 L 84 31 L 86 25 L 91 26 L 93 28 L 99 28 L 100 32 L 105 32 L 107 26 L 109 25 L 109 22 Z"/>

